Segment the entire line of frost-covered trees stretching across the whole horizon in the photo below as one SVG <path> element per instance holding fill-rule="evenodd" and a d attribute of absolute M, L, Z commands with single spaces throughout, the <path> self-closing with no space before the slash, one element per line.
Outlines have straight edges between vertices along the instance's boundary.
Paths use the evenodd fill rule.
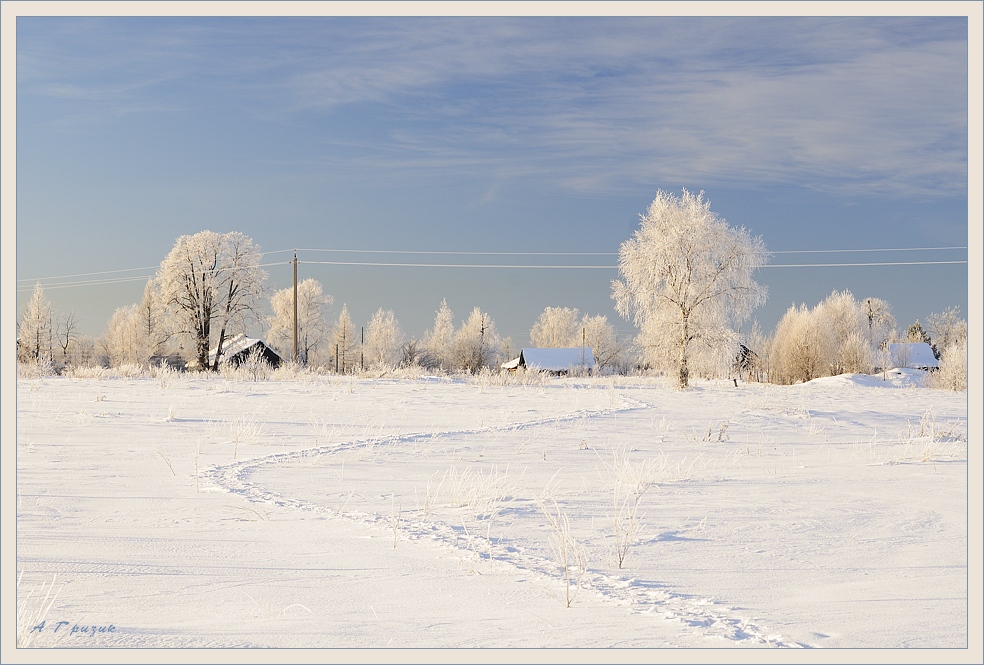
<path fill-rule="evenodd" d="M 140 303 L 117 309 L 105 333 L 80 335 L 74 312 L 56 316 L 41 285 L 18 321 L 18 359 L 62 366 L 137 365 L 180 358 L 191 369 L 219 368 L 233 335 L 252 325 L 283 358 L 294 356 L 294 289 L 269 295 L 261 252 L 238 232 L 202 231 L 177 239 L 147 283 Z M 632 238 L 619 252 L 620 279 L 612 282 L 616 311 L 639 330 L 619 340 L 603 315 L 547 307 L 530 330 L 536 347 L 587 346 L 602 372 L 656 371 L 685 388 L 691 376 L 796 383 L 885 367 L 888 344 L 929 342 L 953 378 L 966 386 L 966 321 L 950 308 L 897 330 L 884 300 L 857 300 L 834 291 L 813 308 L 792 306 L 771 334 L 757 323 L 740 333 L 767 290 L 754 274 L 768 261 L 760 237 L 730 227 L 710 210 L 703 193 L 658 191 Z M 297 362 L 351 373 L 367 367 L 422 367 L 444 372 L 497 368 L 518 354 L 488 313 L 474 308 L 460 325 L 447 301 L 419 339 L 402 331 L 394 312 L 379 309 L 356 327 L 343 304 L 314 279 L 297 284 Z"/>

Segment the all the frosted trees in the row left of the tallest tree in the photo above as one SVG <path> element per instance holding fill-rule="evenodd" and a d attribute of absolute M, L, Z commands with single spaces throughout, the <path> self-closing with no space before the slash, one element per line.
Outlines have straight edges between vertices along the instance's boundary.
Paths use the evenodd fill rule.
<path fill-rule="evenodd" d="M 260 259 L 259 248 L 241 233 L 202 231 L 178 238 L 141 301 L 117 309 L 99 340 L 77 334 L 74 314 L 56 334 L 51 305 L 38 285 L 19 321 L 19 359 L 147 367 L 175 357 L 193 369 L 217 370 L 231 338 L 257 324 L 265 330 L 265 341 L 292 359 L 294 289 L 274 292 L 269 301 L 272 315 L 264 315 L 266 273 Z M 495 368 L 512 354 L 511 341 L 501 338 L 491 316 L 478 307 L 455 326 L 451 309 L 442 301 L 433 328 L 413 339 L 404 334 L 392 311 L 380 309 L 365 326 L 356 326 L 346 305 L 333 319 L 333 303 L 317 280 L 298 283 L 300 364 L 340 373 L 401 366 L 474 373 Z M 583 341 L 597 349 L 602 366 L 617 363 L 619 347 L 607 319 L 578 316 L 577 310 L 548 308 L 534 326 L 534 343 L 580 346 Z"/>

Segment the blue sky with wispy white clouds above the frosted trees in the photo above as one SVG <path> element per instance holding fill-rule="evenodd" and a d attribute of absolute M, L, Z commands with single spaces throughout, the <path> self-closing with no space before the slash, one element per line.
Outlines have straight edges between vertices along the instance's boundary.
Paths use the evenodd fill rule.
<path fill-rule="evenodd" d="M 657 189 L 703 190 L 776 266 L 966 260 L 966 18 L 19 17 L 18 309 L 35 280 L 99 335 L 175 239 L 241 231 L 421 335 L 442 298 L 517 345 L 547 306 L 605 314 Z M 5 104 L 6 104 L 5 100 Z M 6 109 L 5 109 L 6 110 Z M 780 253 L 809 250 L 827 253 Z M 272 289 L 288 253 L 268 254 Z M 101 271 L 132 272 L 54 279 Z M 771 267 L 792 303 L 967 316 L 968 267 Z M 21 281 L 23 280 L 23 281 Z"/>

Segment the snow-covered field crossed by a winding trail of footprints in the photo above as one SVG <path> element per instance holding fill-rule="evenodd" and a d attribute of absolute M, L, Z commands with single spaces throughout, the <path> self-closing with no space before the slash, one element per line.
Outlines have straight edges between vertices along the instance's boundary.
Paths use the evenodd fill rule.
<path fill-rule="evenodd" d="M 21 379 L 18 641 L 966 648 L 967 396 L 917 378 Z"/>

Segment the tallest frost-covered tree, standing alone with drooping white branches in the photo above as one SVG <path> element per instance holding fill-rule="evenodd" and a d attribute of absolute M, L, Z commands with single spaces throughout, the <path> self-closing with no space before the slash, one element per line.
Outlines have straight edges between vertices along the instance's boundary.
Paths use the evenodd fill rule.
<path fill-rule="evenodd" d="M 647 361 L 674 366 L 685 388 L 694 352 L 729 344 L 737 350 L 730 326 L 765 302 L 766 287 L 752 275 L 767 259 L 762 239 L 729 227 L 703 192 L 658 191 L 635 235 L 622 243 L 615 308 L 639 327 Z"/>

